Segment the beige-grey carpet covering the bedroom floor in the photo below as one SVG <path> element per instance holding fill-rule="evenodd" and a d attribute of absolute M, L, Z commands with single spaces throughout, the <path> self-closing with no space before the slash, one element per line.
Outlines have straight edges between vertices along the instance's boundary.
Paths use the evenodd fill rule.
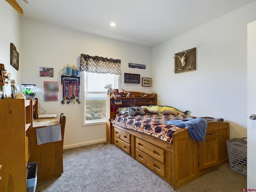
<path fill-rule="evenodd" d="M 165 180 L 113 144 L 64 150 L 64 173 L 38 182 L 36 192 L 175 192 Z M 240 192 L 246 176 L 224 164 L 177 192 Z"/>

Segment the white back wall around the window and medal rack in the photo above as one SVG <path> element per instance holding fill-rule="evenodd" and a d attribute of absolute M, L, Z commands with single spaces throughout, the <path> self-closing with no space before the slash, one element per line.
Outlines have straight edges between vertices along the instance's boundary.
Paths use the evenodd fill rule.
<path fill-rule="evenodd" d="M 79 66 L 80 54 L 96 55 L 121 60 L 121 72 L 136 73 L 151 78 L 151 49 L 145 46 L 84 34 L 67 28 L 35 22 L 22 18 L 22 84 L 36 84 L 37 97 L 45 114 L 66 114 L 64 148 L 72 148 L 106 141 L 106 124 L 82 126 L 82 104 L 61 104 L 62 88 L 60 84 L 62 67 L 70 64 Z M 129 68 L 128 63 L 146 65 L 146 69 Z M 54 78 L 39 77 L 39 67 L 54 68 Z M 123 75 L 122 75 L 123 78 Z M 58 81 L 60 100 L 43 101 L 43 82 Z M 124 84 L 119 90 L 151 92 L 141 84 Z M 106 82 L 108 84 L 108 82 Z M 39 110 L 42 114 L 43 110 Z"/>

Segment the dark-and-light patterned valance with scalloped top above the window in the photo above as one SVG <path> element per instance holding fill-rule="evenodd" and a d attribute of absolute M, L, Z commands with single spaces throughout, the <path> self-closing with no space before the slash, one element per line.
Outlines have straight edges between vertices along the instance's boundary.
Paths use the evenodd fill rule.
<path fill-rule="evenodd" d="M 121 60 L 81 54 L 80 71 L 121 75 Z"/>

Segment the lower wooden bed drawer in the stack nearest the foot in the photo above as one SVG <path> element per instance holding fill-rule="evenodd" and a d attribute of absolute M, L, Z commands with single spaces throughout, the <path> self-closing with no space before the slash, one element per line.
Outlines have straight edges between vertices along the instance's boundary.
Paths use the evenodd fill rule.
<path fill-rule="evenodd" d="M 148 156 L 147 154 L 136 149 L 136 160 L 155 172 L 156 174 L 165 177 L 164 175 L 164 164 L 160 163 L 158 160 Z"/>

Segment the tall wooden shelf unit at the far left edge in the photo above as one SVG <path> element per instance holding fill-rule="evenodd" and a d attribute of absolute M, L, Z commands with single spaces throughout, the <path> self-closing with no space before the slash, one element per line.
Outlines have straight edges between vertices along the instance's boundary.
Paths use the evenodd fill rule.
<path fill-rule="evenodd" d="M 0 99 L 0 191 L 25 192 L 31 146 L 32 100 Z"/>

